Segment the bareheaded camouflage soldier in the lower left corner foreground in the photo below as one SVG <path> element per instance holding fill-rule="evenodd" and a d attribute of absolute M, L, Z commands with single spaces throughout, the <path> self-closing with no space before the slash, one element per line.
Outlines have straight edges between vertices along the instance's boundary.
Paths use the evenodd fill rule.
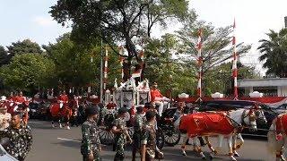
<path fill-rule="evenodd" d="M 32 136 L 30 127 L 21 122 L 20 113 L 12 115 L 11 124 L 4 131 L 0 131 L 0 138 L 9 140 L 5 150 L 19 161 L 23 161 L 30 151 Z"/>

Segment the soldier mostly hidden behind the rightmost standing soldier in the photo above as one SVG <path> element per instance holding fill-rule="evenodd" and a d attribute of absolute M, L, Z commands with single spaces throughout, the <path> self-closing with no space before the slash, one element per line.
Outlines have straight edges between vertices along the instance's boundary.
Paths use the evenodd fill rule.
<path fill-rule="evenodd" d="M 143 106 L 136 108 L 135 114 L 135 125 L 134 125 L 134 135 L 133 135 L 133 161 L 135 161 L 136 151 L 141 148 L 141 133 L 143 130 Z"/>

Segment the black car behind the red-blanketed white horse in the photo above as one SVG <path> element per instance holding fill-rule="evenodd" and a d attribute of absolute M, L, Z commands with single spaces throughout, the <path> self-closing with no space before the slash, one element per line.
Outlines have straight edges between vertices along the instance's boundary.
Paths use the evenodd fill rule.
<path fill-rule="evenodd" d="M 236 110 L 238 108 L 249 108 L 255 105 L 261 106 L 261 108 L 264 110 L 267 123 L 257 122 L 257 131 L 248 131 L 248 129 L 245 129 L 242 133 L 244 135 L 265 137 L 272 124 L 272 121 L 279 114 L 271 106 L 248 100 L 212 100 L 202 102 L 198 106 L 198 111 L 229 111 Z"/>

